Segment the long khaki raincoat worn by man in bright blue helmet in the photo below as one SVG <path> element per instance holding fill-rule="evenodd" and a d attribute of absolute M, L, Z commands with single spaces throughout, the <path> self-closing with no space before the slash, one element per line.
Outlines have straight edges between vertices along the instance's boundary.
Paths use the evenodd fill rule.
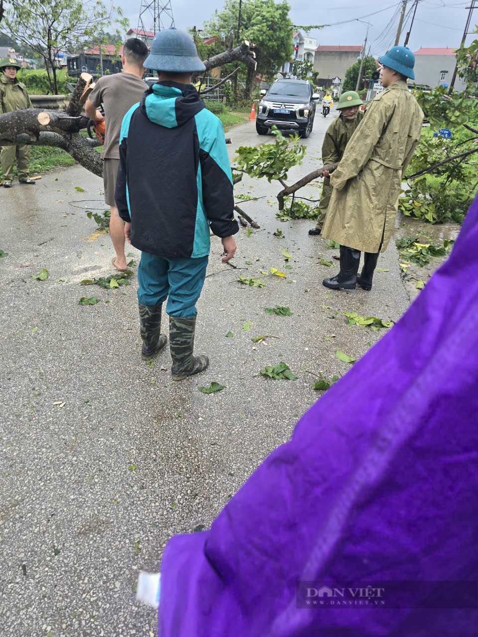
<path fill-rule="evenodd" d="M 331 175 L 322 237 L 362 252 L 386 250 L 402 176 L 421 134 L 423 112 L 405 82 L 375 97 Z"/>

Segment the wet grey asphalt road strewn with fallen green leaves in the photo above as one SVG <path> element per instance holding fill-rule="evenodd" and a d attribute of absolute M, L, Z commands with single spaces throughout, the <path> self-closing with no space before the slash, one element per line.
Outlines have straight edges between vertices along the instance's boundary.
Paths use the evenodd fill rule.
<path fill-rule="evenodd" d="M 330 121 L 317 115 L 289 183 L 320 165 Z M 228 134 L 231 156 L 264 140 L 250 123 Z M 109 236 L 69 205 L 87 199 L 100 212 L 102 188 L 75 166 L 35 187 L 0 190 L 0 248 L 9 253 L 0 259 L 0 625 L 9 637 L 155 635 L 156 612 L 134 598 L 138 571 L 159 569 L 171 535 L 207 528 L 288 440 L 320 396 L 309 371 L 343 375 L 349 366 L 337 350 L 358 358 L 386 331 L 346 326 L 342 312 L 398 320 L 408 305 L 395 245 L 380 257 L 387 271 L 377 272 L 372 293 L 331 292 L 321 280 L 337 271 L 338 252 L 308 236 L 313 222 L 275 218 L 268 200 L 280 186 L 245 177 L 235 192 L 263 197 L 240 203 L 261 229 L 238 234 L 238 270 L 221 263 L 221 243 L 212 240 L 196 334 L 210 367 L 172 383 L 167 348 L 152 366 L 140 360 L 136 276 L 117 290 L 80 287 L 114 273 Z M 315 185 L 307 192 L 315 197 Z M 273 236 L 278 227 L 282 239 Z M 288 263 L 282 249 L 293 255 Z M 271 267 L 287 278 L 261 275 Z M 33 280 L 41 268 L 49 278 Z M 237 283 L 239 272 L 266 287 Z M 78 305 L 93 295 L 101 302 Z M 266 315 L 276 305 L 293 316 Z M 259 334 L 277 338 L 254 343 Z M 259 374 L 280 361 L 297 381 Z M 212 381 L 226 389 L 199 392 Z"/>

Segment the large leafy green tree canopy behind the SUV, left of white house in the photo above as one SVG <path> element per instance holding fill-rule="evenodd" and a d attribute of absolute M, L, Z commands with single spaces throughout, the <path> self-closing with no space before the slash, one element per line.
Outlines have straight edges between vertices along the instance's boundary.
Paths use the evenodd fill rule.
<path fill-rule="evenodd" d="M 213 17 L 205 22 L 201 35 L 218 36 L 224 42 L 233 31 L 235 41 L 247 39 L 254 43 L 260 48 L 257 73 L 272 79 L 293 54 L 293 24 L 289 10 L 286 0 L 280 3 L 274 0 L 243 0 L 238 34 L 239 0 L 226 0 L 222 9 L 216 10 Z"/>

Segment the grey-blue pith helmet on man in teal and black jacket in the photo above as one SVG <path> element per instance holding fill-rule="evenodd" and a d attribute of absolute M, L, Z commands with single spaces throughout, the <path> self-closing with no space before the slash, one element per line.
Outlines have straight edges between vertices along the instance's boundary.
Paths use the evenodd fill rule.
<path fill-rule="evenodd" d="M 164 29 L 154 36 L 144 66 L 154 71 L 194 73 L 204 71 L 191 36 L 175 27 Z"/>

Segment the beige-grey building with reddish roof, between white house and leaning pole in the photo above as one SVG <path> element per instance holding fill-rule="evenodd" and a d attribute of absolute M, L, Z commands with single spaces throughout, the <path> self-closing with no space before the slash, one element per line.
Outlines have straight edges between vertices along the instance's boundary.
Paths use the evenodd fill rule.
<path fill-rule="evenodd" d="M 333 89 L 340 96 L 345 71 L 361 56 L 362 48 L 362 45 L 319 45 L 314 55 L 314 71 L 319 73 L 315 84 Z"/>

